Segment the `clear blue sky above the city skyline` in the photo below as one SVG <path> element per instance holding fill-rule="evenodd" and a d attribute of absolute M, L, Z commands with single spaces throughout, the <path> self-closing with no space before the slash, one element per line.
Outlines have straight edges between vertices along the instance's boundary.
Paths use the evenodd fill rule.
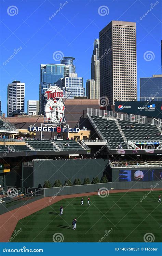
<path fill-rule="evenodd" d="M 65 3 L 65 4 L 64 4 Z M 153 7 L 152 4 L 157 3 Z M 62 9 L 59 7 L 62 5 Z M 12 12 L 11 6 L 14 5 Z M 105 5 L 106 15 L 98 8 Z M 151 11 L 140 18 L 150 7 Z M 52 16 L 57 10 L 57 14 Z M 0 1 L 0 97 L 7 109 L 7 85 L 25 82 L 27 100 L 39 99 L 40 64 L 60 63 L 55 51 L 76 58 L 76 72 L 91 78 L 93 41 L 111 20 L 137 23 L 137 85 L 139 77 L 161 74 L 162 1 L 155 0 L 1 0 Z M 15 14 L 15 15 L 13 15 Z M 103 13 L 104 14 L 104 13 Z M 107 15 L 108 14 L 108 15 Z M 8 62 L 14 49 L 19 52 Z M 144 54 L 151 51 L 150 59 Z M 146 55 L 146 54 L 145 54 Z M 149 58 L 148 56 L 148 58 Z M 138 94 L 139 95 L 139 94 Z"/>

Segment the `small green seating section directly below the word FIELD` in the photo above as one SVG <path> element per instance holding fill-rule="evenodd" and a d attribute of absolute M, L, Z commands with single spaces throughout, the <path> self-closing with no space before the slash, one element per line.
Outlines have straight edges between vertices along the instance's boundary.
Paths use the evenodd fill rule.
<path fill-rule="evenodd" d="M 79 143 L 77 143 L 75 140 L 54 140 L 54 143 L 56 145 L 60 145 L 60 148 L 62 148 L 63 144 L 63 149 L 62 150 L 85 150 Z M 68 144 L 68 146 L 66 145 Z"/>

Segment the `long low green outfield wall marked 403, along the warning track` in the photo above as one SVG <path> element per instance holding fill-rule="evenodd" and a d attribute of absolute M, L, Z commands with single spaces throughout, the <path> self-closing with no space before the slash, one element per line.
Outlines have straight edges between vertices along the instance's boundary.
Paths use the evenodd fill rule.
<path fill-rule="evenodd" d="M 162 188 L 162 181 L 141 181 L 141 182 L 109 182 L 99 184 L 89 184 L 80 186 L 60 187 L 44 189 L 44 196 L 57 196 L 57 195 L 69 195 L 94 192 L 97 194 L 98 188 L 103 190 L 123 190 L 123 189 L 151 189 Z"/>

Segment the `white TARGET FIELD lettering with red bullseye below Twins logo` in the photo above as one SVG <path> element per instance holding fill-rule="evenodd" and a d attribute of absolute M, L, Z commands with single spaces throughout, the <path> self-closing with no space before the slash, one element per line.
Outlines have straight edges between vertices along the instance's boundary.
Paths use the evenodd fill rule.
<path fill-rule="evenodd" d="M 36 127 L 36 126 L 29 126 L 28 131 L 53 131 L 53 132 L 72 132 L 72 133 L 78 133 L 80 132 L 79 128 L 66 128 L 66 127 Z"/>

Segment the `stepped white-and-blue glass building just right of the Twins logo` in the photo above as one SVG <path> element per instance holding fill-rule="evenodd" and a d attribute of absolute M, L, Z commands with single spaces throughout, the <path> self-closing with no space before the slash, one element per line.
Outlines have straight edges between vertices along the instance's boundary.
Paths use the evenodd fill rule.
<path fill-rule="evenodd" d="M 74 99 L 74 97 L 84 97 L 85 88 L 83 88 L 83 78 L 78 74 L 70 73 L 66 77 L 61 78 L 58 84 L 64 89 L 64 98 Z"/>

